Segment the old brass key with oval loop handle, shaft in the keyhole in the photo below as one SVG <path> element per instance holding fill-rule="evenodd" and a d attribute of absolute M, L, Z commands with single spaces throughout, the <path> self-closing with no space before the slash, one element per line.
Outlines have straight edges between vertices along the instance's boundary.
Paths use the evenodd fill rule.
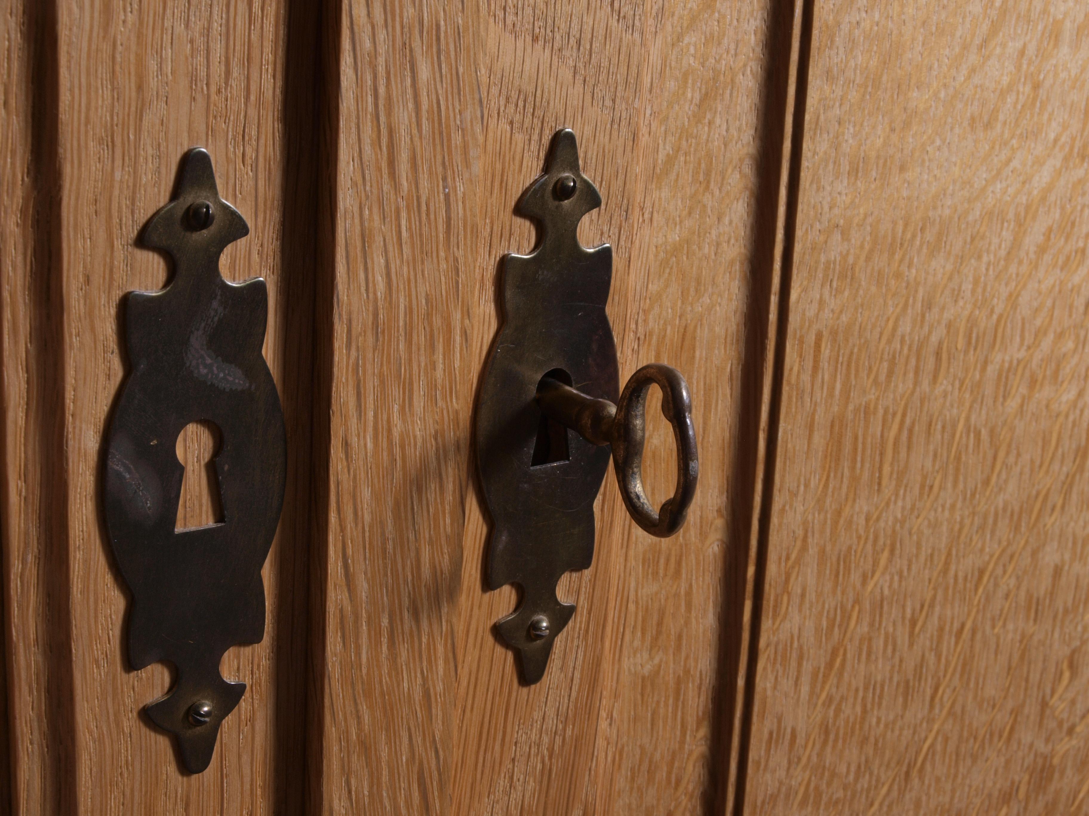
<path fill-rule="evenodd" d="M 662 413 L 673 426 L 677 450 L 676 490 L 658 512 L 643 486 L 647 392 L 654 383 L 662 390 Z M 608 399 L 595 399 L 546 376 L 537 387 L 537 403 L 549 418 L 577 431 L 595 445 L 612 445 L 620 492 L 627 511 L 639 527 L 660 539 L 681 529 L 696 495 L 699 456 L 692 421 L 692 397 L 680 371 L 660 362 L 644 366 L 632 374 L 616 405 Z"/>

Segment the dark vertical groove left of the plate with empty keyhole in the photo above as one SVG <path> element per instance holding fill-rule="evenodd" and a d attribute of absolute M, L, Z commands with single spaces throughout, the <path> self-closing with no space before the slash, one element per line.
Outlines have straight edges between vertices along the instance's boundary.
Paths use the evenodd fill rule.
<path fill-rule="evenodd" d="M 37 507 L 32 510 L 28 535 L 17 536 L 5 530 L 4 546 L 4 604 L 7 654 L 4 656 L 8 683 L 8 709 L 14 695 L 16 667 L 13 629 L 14 602 L 11 581 L 19 561 L 28 564 L 34 572 L 37 608 L 29 610 L 35 618 L 35 629 L 41 639 L 32 662 L 40 666 L 27 667 L 24 679 L 40 683 L 37 702 L 42 706 L 40 717 L 44 730 L 39 734 L 44 744 L 37 746 L 41 756 L 42 776 L 38 777 L 40 790 L 27 789 L 32 769 L 7 765 L 7 772 L 14 777 L 10 787 L 14 811 L 32 807 L 37 803 L 44 813 L 74 814 L 75 792 L 78 789 L 75 762 L 75 687 L 72 662 L 72 617 L 69 597 L 70 547 L 68 503 L 68 423 L 66 423 L 66 367 L 65 309 L 62 255 L 62 173 L 60 156 L 60 52 L 58 44 L 58 14 L 56 1 L 27 2 L 24 5 L 23 32 L 29 42 L 29 62 L 26 77 L 29 111 L 29 156 L 26 183 L 30 191 L 29 267 L 27 295 L 29 298 L 29 332 L 25 355 L 27 400 L 25 417 L 27 432 L 22 441 L 3 440 L 3 455 L 11 454 L 11 444 L 22 444 L 28 454 L 24 466 L 36 471 Z M 17 272 L 16 272 L 17 274 Z M 5 407 L 5 412 L 11 406 Z M 7 417 L 5 417 L 7 419 Z M 4 432 L 7 436 L 7 429 Z M 4 491 L 4 517 L 12 517 L 10 485 Z M 5 526 L 9 522 L 5 522 Z M 32 551 L 16 553 L 22 544 Z M 40 671 L 40 675 L 39 675 Z M 28 677 L 27 677 L 28 675 Z M 32 697 L 34 698 L 34 697 Z M 24 712 L 24 716 L 27 713 Z M 16 720 L 9 720 L 10 761 L 20 755 L 22 740 L 34 734 L 22 734 Z M 22 786 L 19 783 L 22 782 Z"/>

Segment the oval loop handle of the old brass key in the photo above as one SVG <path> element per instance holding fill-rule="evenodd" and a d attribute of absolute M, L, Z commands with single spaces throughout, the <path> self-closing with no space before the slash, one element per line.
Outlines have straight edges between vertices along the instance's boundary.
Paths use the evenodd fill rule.
<path fill-rule="evenodd" d="M 662 415 L 673 426 L 677 452 L 677 484 L 673 497 L 658 512 L 643 486 L 643 444 L 647 433 L 647 392 L 658 383 L 662 390 Z M 652 362 L 632 374 L 616 404 L 612 428 L 613 466 L 627 511 L 635 523 L 651 535 L 666 539 L 684 524 L 688 506 L 696 495 L 699 456 L 696 429 L 692 422 L 692 396 L 681 372 L 672 366 Z"/>

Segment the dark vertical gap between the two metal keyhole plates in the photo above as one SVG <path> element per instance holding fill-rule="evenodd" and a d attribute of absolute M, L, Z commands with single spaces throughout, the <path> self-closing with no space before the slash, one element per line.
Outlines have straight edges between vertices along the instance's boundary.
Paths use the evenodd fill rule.
<path fill-rule="evenodd" d="M 306 812 L 305 768 L 310 730 L 310 597 L 313 559 L 316 551 L 314 524 L 320 514 L 315 485 L 328 469 L 328 444 L 321 425 L 328 423 L 328 399 L 322 400 L 321 372 L 325 358 L 318 354 L 323 324 L 321 280 L 330 274 L 326 261 L 328 238 L 321 207 L 321 190 L 335 173 L 327 165 L 323 128 L 329 115 L 323 94 L 322 38 L 327 3 L 290 0 L 286 7 L 283 81 L 282 244 L 283 297 L 278 299 L 278 320 L 287 326 L 281 334 L 284 416 L 296 434 L 297 453 L 289 450 L 289 481 L 296 500 L 284 505 L 281 519 L 281 588 L 277 616 L 273 812 L 296 816 Z M 325 406 L 325 408 L 323 408 Z M 270 610 L 271 611 L 271 610 Z"/>

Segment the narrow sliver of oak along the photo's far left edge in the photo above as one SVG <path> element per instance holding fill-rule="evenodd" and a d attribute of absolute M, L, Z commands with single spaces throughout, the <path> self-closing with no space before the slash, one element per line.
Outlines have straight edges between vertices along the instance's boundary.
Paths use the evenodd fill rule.
<path fill-rule="evenodd" d="M 42 304 L 50 295 L 54 256 L 56 203 L 49 196 L 56 162 L 56 128 L 48 127 L 44 106 L 56 101 L 56 72 L 46 54 L 50 15 L 33 2 L 10 3 L 3 15 L 3 116 L 0 134 L 0 194 L 11 215 L 0 225 L 2 275 L 3 428 L 2 449 L 4 601 L 5 756 L 4 813 L 56 813 L 60 781 L 71 772 L 71 752 L 56 738 L 58 719 L 71 709 L 47 705 L 58 681 L 71 675 L 65 632 L 57 632 L 41 614 L 54 595 L 40 551 L 53 546 L 48 507 L 54 463 L 53 384 L 37 372 L 52 351 L 44 336 L 56 334 Z M 56 39 L 54 37 L 52 38 Z M 36 86 L 37 85 L 37 89 Z M 37 92 L 36 92 L 37 90 Z M 46 368 L 48 370 L 48 368 Z M 50 412 L 54 412 L 54 409 Z M 47 537 L 48 536 L 48 537 Z M 26 552 L 34 542 L 39 553 Z M 22 545 L 22 546 L 21 546 Z M 62 593 L 66 594 L 66 593 Z M 66 626 L 68 621 L 62 621 Z M 17 698 L 19 703 L 15 704 Z M 50 742 L 53 743 L 49 751 Z M 13 755 L 8 752 L 13 750 Z"/>

